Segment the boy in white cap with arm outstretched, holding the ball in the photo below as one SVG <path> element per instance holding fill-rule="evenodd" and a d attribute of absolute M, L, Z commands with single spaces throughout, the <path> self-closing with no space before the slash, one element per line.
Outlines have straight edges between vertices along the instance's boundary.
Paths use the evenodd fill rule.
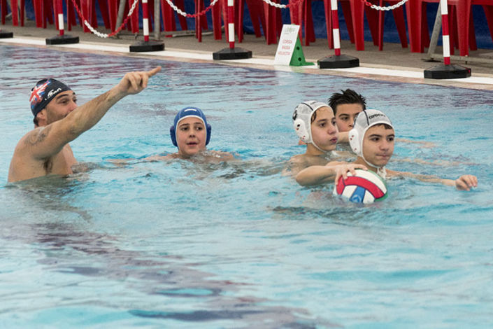
<path fill-rule="evenodd" d="M 478 179 L 473 175 L 463 175 L 452 180 L 386 169 L 385 165 L 394 153 L 394 142 L 395 132 L 392 122 L 383 112 L 378 110 L 369 109 L 359 113 L 355 120 L 355 126 L 349 132 L 351 150 L 357 155 L 357 160 L 353 163 L 364 165 L 378 173 L 383 179 L 391 176 L 408 176 L 420 181 L 455 186 L 457 190 L 471 190 L 471 188 L 478 186 Z M 334 172 L 334 163 L 329 162 L 325 167 L 329 168 L 326 169 L 322 166 L 306 168 L 299 172 L 296 181 L 303 186 L 313 186 L 330 181 L 330 178 L 334 176 L 331 174 Z M 335 181 L 338 181 L 340 176 L 345 178 L 346 173 L 338 170 Z"/>

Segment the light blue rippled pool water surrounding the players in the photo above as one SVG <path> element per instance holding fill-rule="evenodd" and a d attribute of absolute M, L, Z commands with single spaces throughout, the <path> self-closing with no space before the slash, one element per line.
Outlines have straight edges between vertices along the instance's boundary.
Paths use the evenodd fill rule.
<path fill-rule="evenodd" d="M 5 45 L 0 57 L 0 326 L 492 327 L 492 92 Z M 88 172 L 7 184 L 38 78 L 83 104 L 156 64 L 148 90 L 71 143 Z M 396 179 L 362 207 L 282 176 L 303 152 L 294 106 L 347 87 L 399 137 L 434 144 L 396 144 L 390 169 L 476 174 L 478 188 Z M 169 126 L 189 105 L 208 115 L 209 147 L 241 161 L 110 162 L 175 151 Z"/>

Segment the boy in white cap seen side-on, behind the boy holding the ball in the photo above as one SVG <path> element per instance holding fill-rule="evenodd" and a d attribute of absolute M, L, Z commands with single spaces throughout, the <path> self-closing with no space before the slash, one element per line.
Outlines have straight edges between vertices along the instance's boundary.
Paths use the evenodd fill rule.
<path fill-rule="evenodd" d="M 338 141 L 336 118 L 331 107 L 317 101 L 302 102 L 296 106 L 293 113 L 293 125 L 296 135 L 306 144 L 306 152 L 294 155 L 289 162 L 285 173 L 298 174 L 310 166 L 325 166 L 337 156 L 334 151 Z M 332 166 L 354 171 L 362 165 L 348 164 L 347 162 L 331 162 Z M 329 167 L 327 167 L 329 168 Z M 342 170 L 342 169 L 341 169 Z M 345 170 L 347 172 L 348 170 Z M 336 172 L 331 172 L 334 179 Z"/>

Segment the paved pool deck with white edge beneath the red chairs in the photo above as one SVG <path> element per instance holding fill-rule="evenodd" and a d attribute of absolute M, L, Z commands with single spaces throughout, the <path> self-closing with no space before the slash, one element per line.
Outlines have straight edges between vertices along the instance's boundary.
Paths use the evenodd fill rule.
<path fill-rule="evenodd" d="M 43 48 L 54 48 L 57 50 L 83 51 L 83 52 L 109 52 L 111 54 L 151 57 L 189 62 L 216 62 L 218 64 L 249 66 L 259 69 L 276 69 L 283 71 L 299 71 L 313 74 L 327 74 L 336 76 L 347 76 L 353 78 L 369 78 L 374 80 L 389 80 L 405 83 L 424 83 L 432 85 L 445 85 L 452 87 L 464 87 L 480 90 L 493 90 L 493 59 L 492 63 L 474 62 L 473 58 L 493 58 L 493 50 L 479 49 L 471 51 L 471 62 L 461 62 L 452 59 L 452 64 L 469 67 L 472 71 L 470 78 L 460 79 L 425 79 L 424 69 L 429 69 L 440 62 L 431 62 L 427 59 L 427 53 L 410 52 L 409 48 L 401 48 L 397 43 L 385 43 L 383 51 L 371 42 L 365 43 L 364 51 L 355 50 L 355 45 L 349 41 L 342 41 L 341 52 L 343 55 L 351 55 L 359 58 L 359 67 L 350 69 L 319 69 L 315 66 L 280 66 L 274 65 L 274 57 L 278 45 L 267 45 L 262 36 L 256 38 L 245 34 L 242 43 L 236 43 L 236 48 L 252 51 L 251 59 L 238 59 L 228 61 L 213 60 L 213 52 L 228 48 L 223 34 L 222 40 L 214 40 L 211 33 L 206 33 L 199 43 L 194 35 L 164 37 L 165 50 L 159 52 L 129 52 L 129 45 L 142 41 L 143 36 L 131 34 L 129 31 L 122 32 L 118 38 L 100 38 L 94 34 L 83 33 L 82 29 L 73 27 L 65 34 L 79 36 L 80 43 L 72 45 L 46 45 L 45 38 L 57 36 L 59 33 L 55 27 L 48 26 L 47 29 L 36 28 L 34 22 L 27 21 L 24 27 L 13 27 L 11 22 L 0 25 L 3 31 L 13 32 L 14 38 L 0 38 L 0 44 L 29 45 Z M 108 30 L 99 27 L 101 33 L 109 33 Z M 180 33 L 180 32 L 178 32 Z M 183 33 L 183 32 L 182 32 Z M 153 38 L 151 33 L 151 39 Z M 441 52 L 441 47 L 436 52 Z M 457 50 L 458 52 L 458 50 Z M 303 46 L 303 53 L 307 62 L 317 62 L 317 59 L 334 55 L 334 50 L 327 46 L 327 39 L 317 39 L 309 46 Z"/>

